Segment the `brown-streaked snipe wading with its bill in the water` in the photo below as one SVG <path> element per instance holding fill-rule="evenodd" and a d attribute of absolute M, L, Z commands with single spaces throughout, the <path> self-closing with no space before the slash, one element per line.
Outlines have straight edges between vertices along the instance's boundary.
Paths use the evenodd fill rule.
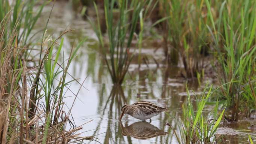
<path fill-rule="evenodd" d="M 153 116 L 161 113 L 162 111 L 167 110 L 165 107 L 159 107 L 151 102 L 138 101 L 132 105 L 125 104 L 122 107 L 122 113 L 119 120 L 122 119 L 124 114 L 129 114 L 132 117 L 140 120 L 150 119 Z M 151 122 L 151 119 L 150 119 Z"/>

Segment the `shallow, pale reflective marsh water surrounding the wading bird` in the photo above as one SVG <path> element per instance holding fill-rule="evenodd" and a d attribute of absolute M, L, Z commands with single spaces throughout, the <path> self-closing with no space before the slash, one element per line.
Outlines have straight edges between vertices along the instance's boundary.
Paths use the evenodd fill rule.
<path fill-rule="evenodd" d="M 38 29 L 44 27 L 50 10 L 51 6 L 45 7 L 44 16 L 37 24 Z M 132 104 L 138 100 L 150 101 L 168 107 L 168 113 L 172 117 L 169 118 L 169 123 L 178 131 L 176 118 L 181 116 L 181 105 L 186 101 L 187 81 L 177 77 L 182 68 L 166 67 L 161 62 L 164 57 L 162 49 L 156 49 L 155 45 L 152 46 L 150 43 L 145 44 L 142 56 L 149 61 L 142 62 L 140 68 L 137 61 L 133 61 L 122 88 L 113 86 L 107 67 L 99 53 L 97 37 L 90 24 L 75 16 L 69 3 L 56 3 L 49 21 L 48 34 L 54 33 L 57 36 L 66 28 L 75 30 L 64 36 L 64 59 L 68 58 L 72 45 L 88 37 L 88 41 L 79 49 L 68 71 L 80 83 L 84 82 L 85 87 L 80 88 L 80 85 L 75 82 L 69 87 L 74 94 L 79 92 L 72 107 L 74 123 L 80 126 L 92 120 L 83 125 L 81 135 L 94 135 L 102 144 L 177 144 L 173 130 L 164 126 L 169 118 L 165 113 L 152 117 L 151 123 L 141 122 L 127 115 L 123 117 L 122 122 L 119 122 L 118 117 L 123 104 Z M 71 79 L 68 77 L 67 80 Z M 212 83 L 212 80 L 205 78 L 201 86 L 197 82 L 188 82 L 188 86 L 195 94 L 201 94 L 207 82 Z M 64 101 L 69 108 L 75 98 L 72 92 L 65 93 Z M 255 120 L 244 120 L 238 125 L 227 124 L 224 130 L 222 128 L 219 131 L 221 134 L 233 133 L 234 129 L 248 129 L 253 123 Z M 230 129 L 227 129 L 229 127 Z M 249 144 L 248 134 L 252 135 L 254 141 L 256 140 L 255 131 L 232 133 L 226 136 L 229 144 Z M 97 141 L 85 143 L 98 143 Z"/>

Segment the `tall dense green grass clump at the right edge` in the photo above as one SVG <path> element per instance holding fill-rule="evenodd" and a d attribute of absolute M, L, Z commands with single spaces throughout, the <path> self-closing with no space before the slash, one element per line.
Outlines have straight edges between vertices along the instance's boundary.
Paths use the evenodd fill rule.
<path fill-rule="evenodd" d="M 210 16 L 209 31 L 213 39 L 215 56 L 220 67 L 216 67 L 221 96 L 229 111 L 226 119 L 237 121 L 239 112 L 250 115 L 256 107 L 256 2 L 254 0 L 224 1 L 214 19 L 212 6 L 205 1 Z"/>

